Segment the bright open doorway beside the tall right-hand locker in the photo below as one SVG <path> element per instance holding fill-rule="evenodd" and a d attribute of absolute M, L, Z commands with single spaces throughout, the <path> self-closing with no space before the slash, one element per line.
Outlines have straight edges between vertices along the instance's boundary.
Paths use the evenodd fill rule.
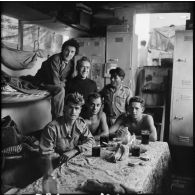
<path fill-rule="evenodd" d="M 161 65 L 162 61 L 171 66 L 169 58 L 173 58 L 175 31 L 185 30 L 188 19 L 190 13 L 136 14 L 138 67 Z"/>

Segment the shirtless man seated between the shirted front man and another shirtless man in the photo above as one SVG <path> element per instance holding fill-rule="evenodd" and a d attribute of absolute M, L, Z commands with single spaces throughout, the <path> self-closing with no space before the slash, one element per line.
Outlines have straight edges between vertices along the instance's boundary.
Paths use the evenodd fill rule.
<path fill-rule="evenodd" d="M 109 135 L 106 114 L 102 111 L 102 98 L 99 93 L 89 94 L 86 108 L 82 111 L 81 116 L 87 122 L 95 140 L 98 141 L 100 136 Z"/>

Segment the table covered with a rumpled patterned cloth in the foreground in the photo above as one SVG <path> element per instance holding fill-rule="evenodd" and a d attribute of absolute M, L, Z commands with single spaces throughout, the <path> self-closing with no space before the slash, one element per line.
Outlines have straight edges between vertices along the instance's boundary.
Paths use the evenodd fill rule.
<path fill-rule="evenodd" d="M 91 154 L 80 154 L 71 159 L 68 167 L 62 165 L 54 170 L 58 180 L 59 193 L 80 193 L 77 187 L 87 179 L 98 179 L 101 182 L 123 183 L 138 193 L 156 193 L 162 187 L 170 168 L 170 151 L 166 142 L 150 142 L 142 145 L 147 151 L 141 156 L 149 157 L 143 161 L 139 157 L 129 156 L 127 160 L 111 163 L 105 160 L 110 153 L 106 148 L 101 150 L 101 157 Z M 128 162 L 143 162 L 144 165 L 128 166 Z M 42 193 L 42 178 L 20 189 L 17 194 Z"/>

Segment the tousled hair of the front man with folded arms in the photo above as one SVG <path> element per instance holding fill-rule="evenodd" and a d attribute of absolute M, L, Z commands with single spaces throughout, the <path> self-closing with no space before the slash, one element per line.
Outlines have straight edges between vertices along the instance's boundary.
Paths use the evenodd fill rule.
<path fill-rule="evenodd" d="M 69 93 L 65 98 L 64 104 L 67 105 L 68 103 L 78 104 L 82 106 L 85 104 L 85 100 L 80 93 Z"/>

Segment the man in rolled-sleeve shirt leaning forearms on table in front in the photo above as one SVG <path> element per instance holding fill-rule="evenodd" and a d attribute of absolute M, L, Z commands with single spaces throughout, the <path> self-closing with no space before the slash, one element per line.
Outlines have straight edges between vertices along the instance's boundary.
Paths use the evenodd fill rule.
<path fill-rule="evenodd" d="M 59 163 L 67 162 L 75 155 L 92 148 L 94 138 L 84 119 L 79 117 L 83 96 L 70 93 L 65 98 L 64 115 L 50 122 L 44 128 L 40 140 L 42 155 L 60 155 Z"/>

